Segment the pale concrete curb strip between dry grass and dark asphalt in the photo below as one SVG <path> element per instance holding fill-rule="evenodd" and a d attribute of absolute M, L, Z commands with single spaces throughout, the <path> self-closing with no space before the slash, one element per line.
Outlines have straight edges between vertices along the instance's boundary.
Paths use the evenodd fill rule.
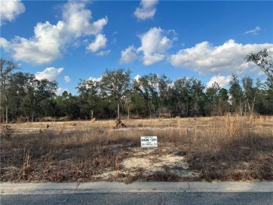
<path fill-rule="evenodd" d="M 1 195 L 114 192 L 273 192 L 273 182 L 0 183 Z"/>

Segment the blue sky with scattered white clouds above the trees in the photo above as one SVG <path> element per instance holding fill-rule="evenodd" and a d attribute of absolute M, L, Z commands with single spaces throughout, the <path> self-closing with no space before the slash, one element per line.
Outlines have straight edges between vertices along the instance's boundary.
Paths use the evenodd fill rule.
<path fill-rule="evenodd" d="M 77 94 L 82 80 L 130 69 L 228 88 L 232 73 L 266 80 L 244 62 L 273 54 L 273 1 L 1 1 L 1 57 Z"/>

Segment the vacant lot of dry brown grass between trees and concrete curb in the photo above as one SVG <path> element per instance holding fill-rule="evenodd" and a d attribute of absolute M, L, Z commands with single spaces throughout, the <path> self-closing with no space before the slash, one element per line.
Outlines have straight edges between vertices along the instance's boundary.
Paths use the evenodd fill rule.
<path fill-rule="evenodd" d="M 1 181 L 272 181 L 273 117 L 1 125 Z M 141 148 L 140 136 L 158 136 Z"/>

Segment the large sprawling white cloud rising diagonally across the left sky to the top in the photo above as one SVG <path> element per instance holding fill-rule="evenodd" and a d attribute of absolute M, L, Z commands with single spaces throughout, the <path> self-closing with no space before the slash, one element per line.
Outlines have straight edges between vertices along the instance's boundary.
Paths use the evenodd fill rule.
<path fill-rule="evenodd" d="M 7 41 L 1 38 L 1 48 L 11 52 L 13 59 L 31 64 L 47 64 L 62 57 L 62 51 L 80 36 L 101 33 L 108 19 L 104 17 L 95 22 L 91 11 L 85 9 L 83 1 L 69 1 L 64 5 L 63 19 L 57 24 L 38 22 L 34 27 L 34 36 L 22 38 L 16 36 Z"/>

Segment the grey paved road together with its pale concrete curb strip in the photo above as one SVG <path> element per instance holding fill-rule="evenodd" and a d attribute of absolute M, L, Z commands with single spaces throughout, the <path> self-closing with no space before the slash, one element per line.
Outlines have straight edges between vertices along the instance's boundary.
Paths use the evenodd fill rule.
<path fill-rule="evenodd" d="M 273 204 L 263 183 L 1 183 L 8 204 Z"/>

